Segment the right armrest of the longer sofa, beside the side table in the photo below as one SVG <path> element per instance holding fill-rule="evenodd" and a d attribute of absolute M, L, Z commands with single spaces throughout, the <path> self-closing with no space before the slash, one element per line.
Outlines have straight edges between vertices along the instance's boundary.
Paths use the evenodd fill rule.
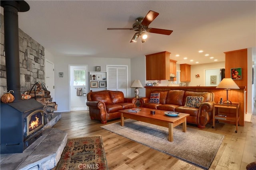
<path fill-rule="evenodd" d="M 198 111 L 198 127 L 204 128 L 205 125 L 212 119 L 213 104 L 215 102 L 203 102 Z"/>

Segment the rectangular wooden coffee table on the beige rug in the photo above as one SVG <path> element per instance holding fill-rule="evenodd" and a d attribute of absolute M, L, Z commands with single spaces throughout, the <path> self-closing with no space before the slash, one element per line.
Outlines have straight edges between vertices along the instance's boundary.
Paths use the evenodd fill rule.
<path fill-rule="evenodd" d="M 148 109 L 143 107 L 137 107 L 140 108 L 141 111 L 138 113 L 132 113 L 128 112 L 129 109 L 120 110 L 121 112 L 121 126 L 124 126 L 124 117 L 134 119 L 137 121 L 143 121 L 146 123 L 151 123 L 154 125 L 159 125 L 163 127 L 168 127 L 169 130 L 169 136 L 168 141 L 173 141 L 173 128 L 180 125 L 182 123 L 182 131 L 187 131 L 187 121 L 186 117 L 189 116 L 189 114 L 186 113 L 180 113 L 178 116 L 172 117 L 167 116 L 164 114 L 164 110 L 156 110 L 156 109 Z M 150 111 L 154 110 L 155 114 L 150 114 Z"/>

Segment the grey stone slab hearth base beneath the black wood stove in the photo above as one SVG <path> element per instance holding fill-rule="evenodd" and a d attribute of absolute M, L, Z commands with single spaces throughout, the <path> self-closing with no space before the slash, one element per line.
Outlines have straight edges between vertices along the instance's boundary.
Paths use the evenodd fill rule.
<path fill-rule="evenodd" d="M 23 153 L 1 154 L 1 170 L 49 170 L 54 168 L 68 141 L 67 132 L 49 128 L 60 119 L 61 114 L 56 113 L 56 115 L 49 122 L 52 125 L 44 126 L 42 136 Z"/>

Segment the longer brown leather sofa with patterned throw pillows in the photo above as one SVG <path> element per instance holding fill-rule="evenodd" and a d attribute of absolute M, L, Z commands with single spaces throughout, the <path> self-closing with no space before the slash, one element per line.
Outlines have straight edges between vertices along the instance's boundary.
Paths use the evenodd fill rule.
<path fill-rule="evenodd" d="M 214 104 L 214 93 L 212 92 L 168 90 L 162 92 L 156 91 L 154 93 L 160 93 L 159 104 L 149 103 L 150 98 L 140 98 L 140 106 L 150 109 L 188 113 L 190 116 L 187 117 L 187 123 L 196 124 L 201 129 L 204 129 L 205 125 L 212 119 Z M 188 107 L 188 105 L 185 106 L 187 96 L 202 96 L 204 100 L 198 108 Z"/>

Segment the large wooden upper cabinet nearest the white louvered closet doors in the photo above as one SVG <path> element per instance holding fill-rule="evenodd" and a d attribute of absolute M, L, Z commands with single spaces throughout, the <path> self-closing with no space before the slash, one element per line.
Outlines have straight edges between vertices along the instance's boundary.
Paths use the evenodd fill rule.
<path fill-rule="evenodd" d="M 175 65 L 176 70 L 176 65 Z M 176 74 L 176 73 L 175 73 Z M 170 79 L 170 52 L 146 55 L 146 80 Z"/>

